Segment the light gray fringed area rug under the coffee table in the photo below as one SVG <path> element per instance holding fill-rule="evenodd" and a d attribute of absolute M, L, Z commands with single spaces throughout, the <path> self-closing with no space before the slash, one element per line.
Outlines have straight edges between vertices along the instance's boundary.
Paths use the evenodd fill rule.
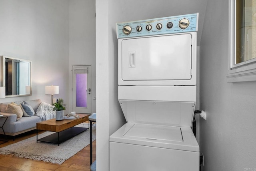
<path fill-rule="evenodd" d="M 87 127 L 88 123 L 81 123 L 76 125 L 77 127 Z M 52 134 L 53 132 L 44 132 L 38 134 L 38 139 Z M 96 124 L 92 126 L 92 140 L 96 139 Z M 58 163 L 61 165 L 65 160 L 69 159 L 84 147 L 90 144 L 90 130 L 74 136 L 63 143 L 45 143 L 38 141 L 36 143 L 36 136 L 24 139 L 14 144 L 10 144 L 6 147 L 0 148 L 0 154 L 14 155 L 16 157 L 33 159 L 39 161 L 46 161 L 50 163 Z"/>

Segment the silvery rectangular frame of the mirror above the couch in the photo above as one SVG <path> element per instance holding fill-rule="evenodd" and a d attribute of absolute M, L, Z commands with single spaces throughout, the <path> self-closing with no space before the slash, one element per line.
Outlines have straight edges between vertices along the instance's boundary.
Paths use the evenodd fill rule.
<path fill-rule="evenodd" d="M 5 97 L 20 97 L 20 96 L 30 96 L 32 95 L 32 87 L 31 87 L 31 64 L 32 64 L 32 61 L 30 60 L 24 60 L 24 59 L 20 59 L 20 58 L 13 58 L 13 57 L 10 57 L 10 56 L 2 56 L 2 86 L 3 87 L 6 87 L 6 82 L 5 82 L 5 59 L 8 58 L 8 59 L 13 59 L 13 60 L 20 60 L 20 61 L 24 61 L 24 62 L 29 62 L 30 63 L 30 73 L 29 73 L 29 77 L 30 77 L 30 93 L 29 94 L 21 94 L 21 95 L 5 95 Z"/>

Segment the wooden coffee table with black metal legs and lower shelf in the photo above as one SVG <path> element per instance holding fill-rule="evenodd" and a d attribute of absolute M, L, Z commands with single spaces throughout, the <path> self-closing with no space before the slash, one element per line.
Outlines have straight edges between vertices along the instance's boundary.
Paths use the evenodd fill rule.
<path fill-rule="evenodd" d="M 60 145 L 60 143 L 88 129 L 74 126 L 88 121 L 89 114 L 76 113 L 76 115 L 79 115 L 76 119 L 63 119 L 62 121 L 56 121 L 54 118 L 36 123 L 36 142 L 43 141 Z M 55 133 L 38 139 L 38 130 L 51 131 Z"/>

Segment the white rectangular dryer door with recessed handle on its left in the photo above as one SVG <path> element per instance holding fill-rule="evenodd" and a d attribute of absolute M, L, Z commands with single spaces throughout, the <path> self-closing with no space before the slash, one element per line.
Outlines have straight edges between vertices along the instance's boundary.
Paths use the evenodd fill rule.
<path fill-rule="evenodd" d="M 122 40 L 122 80 L 190 80 L 191 34 Z"/>

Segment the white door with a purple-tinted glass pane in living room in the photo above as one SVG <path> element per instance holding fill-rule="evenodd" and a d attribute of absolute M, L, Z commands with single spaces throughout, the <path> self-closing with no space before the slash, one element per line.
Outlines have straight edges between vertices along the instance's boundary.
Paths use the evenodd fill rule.
<path fill-rule="evenodd" d="M 91 65 L 72 66 L 72 111 L 91 113 Z"/>

